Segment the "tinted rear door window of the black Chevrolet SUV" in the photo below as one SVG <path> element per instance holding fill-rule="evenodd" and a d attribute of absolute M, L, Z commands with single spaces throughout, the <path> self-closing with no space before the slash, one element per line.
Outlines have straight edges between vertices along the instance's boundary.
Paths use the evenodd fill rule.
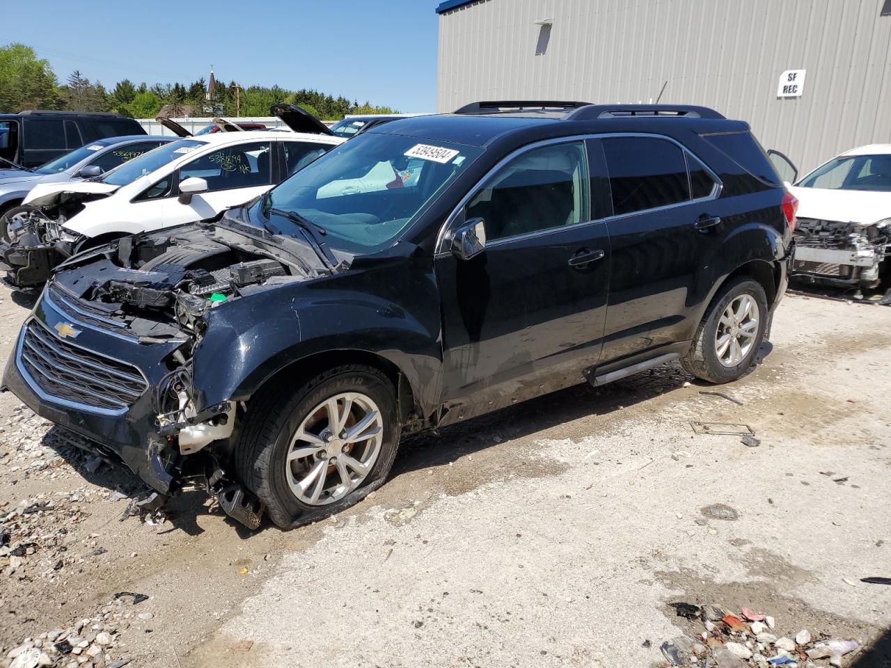
<path fill-rule="evenodd" d="M 613 137 L 603 140 L 603 151 L 615 216 L 691 199 L 684 151 L 676 144 L 655 137 Z"/>

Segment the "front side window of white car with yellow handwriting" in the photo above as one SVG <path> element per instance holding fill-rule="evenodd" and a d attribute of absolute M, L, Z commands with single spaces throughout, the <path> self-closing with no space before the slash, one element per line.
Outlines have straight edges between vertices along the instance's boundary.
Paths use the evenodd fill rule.
<path fill-rule="evenodd" d="M 272 183 L 272 144 L 240 143 L 211 151 L 179 169 L 182 182 L 192 176 L 208 182 L 208 191 L 250 188 Z"/>

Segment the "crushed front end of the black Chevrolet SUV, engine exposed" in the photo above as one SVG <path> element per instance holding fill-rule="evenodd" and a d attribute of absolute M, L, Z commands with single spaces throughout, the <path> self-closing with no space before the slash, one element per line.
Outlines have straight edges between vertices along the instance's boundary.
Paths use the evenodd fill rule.
<path fill-rule="evenodd" d="M 203 485 L 233 517 L 257 525 L 261 509 L 225 466 L 246 403 L 204 405 L 213 387 L 196 389 L 193 358 L 211 311 L 312 274 L 273 243 L 212 224 L 88 251 L 45 287 L 3 385 L 159 493 Z M 231 351 L 208 354 L 232 363 Z"/>

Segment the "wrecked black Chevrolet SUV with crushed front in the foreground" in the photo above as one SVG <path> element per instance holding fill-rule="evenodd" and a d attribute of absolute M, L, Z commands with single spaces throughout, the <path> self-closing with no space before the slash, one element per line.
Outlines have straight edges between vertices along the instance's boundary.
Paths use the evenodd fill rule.
<path fill-rule="evenodd" d="M 394 120 L 217 219 L 60 265 L 4 387 L 161 495 L 200 480 L 246 525 L 303 524 L 381 485 L 405 432 L 670 360 L 739 379 L 795 208 L 714 110 Z"/>

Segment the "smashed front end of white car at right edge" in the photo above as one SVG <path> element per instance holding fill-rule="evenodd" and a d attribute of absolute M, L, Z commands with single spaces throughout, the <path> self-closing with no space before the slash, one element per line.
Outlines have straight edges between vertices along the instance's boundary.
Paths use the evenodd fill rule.
<path fill-rule="evenodd" d="M 891 254 L 891 218 L 873 224 L 798 218 L 791 277 L 822 285 L 877 288 Z"/>

